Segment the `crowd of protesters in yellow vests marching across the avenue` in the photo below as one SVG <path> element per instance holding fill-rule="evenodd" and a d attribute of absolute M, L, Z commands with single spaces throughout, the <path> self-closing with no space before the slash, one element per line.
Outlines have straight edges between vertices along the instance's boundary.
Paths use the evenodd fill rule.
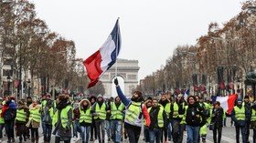
<path fill-rule="evenodd" d="M 116 78 L 114 84 L 118 96 L 108 99 L 98 95 L 72 100 L 68 94 L 56 99 L 49 94 L 18 101 L 13 96 L 0 98 L 0 142 L 5 130 L 8 143 L 16 142 L 15 137 L 19 143 L 27 139 L 38 143 L 38 128 L 42 128 L 44 143 L 51 142 L 52 135 L 56 143 L 70 143 L 71 138 L 81 138 L 82 143 L 96 139 L 100 143 L 120 143 L 123 139 L 138 143 L 144 128 L 144 142 L 206 142 L 211 130 L 214 142 L 219 143 L 226 116 L 234 122 L 237 142 L 240 130 L 242 142 L 249 142 L 250 128 L 256 142 L 256 102 L 250 103 L 248 97 L 243 101 L 239 97 L 228 114 L 218 101 L 211 103 L 199 96 L 185 98 L 182 94 L 144 99 L 140 91 L 128 98 Z"/>

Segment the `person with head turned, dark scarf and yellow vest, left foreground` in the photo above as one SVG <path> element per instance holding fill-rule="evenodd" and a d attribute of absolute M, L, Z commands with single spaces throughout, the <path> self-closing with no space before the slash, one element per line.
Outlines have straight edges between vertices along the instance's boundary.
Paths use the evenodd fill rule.
<path fill-rule="evenodd" d="M 57 112 L 54 114 L 52 125 L 55 126 L 53 135 L 55 143 L 64 141 L 70 143 L 71 139 L 71 125 L 72 125 L 72 107 L 69 102 L 69 95 L 59 95 L 57 102 Z"/>

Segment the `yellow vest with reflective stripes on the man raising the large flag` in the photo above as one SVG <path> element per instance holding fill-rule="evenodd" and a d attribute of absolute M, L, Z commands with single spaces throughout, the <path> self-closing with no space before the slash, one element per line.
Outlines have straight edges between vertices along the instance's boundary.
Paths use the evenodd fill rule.
<path fill-rule="evenodd" d="M 131 105 L 128 107 L 125 113 L 125 120 L 133 124 L 141 113 L 141 105 L 141 102 L 136 103 L 132 101 Z"/>

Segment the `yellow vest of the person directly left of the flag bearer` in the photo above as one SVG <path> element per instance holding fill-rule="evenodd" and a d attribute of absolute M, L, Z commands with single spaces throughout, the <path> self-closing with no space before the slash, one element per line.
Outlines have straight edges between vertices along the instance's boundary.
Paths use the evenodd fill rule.
<path fill-rule="evenodd" d="M 119 107 L 117 108 L 115 103 L 112 102 L 112 104 L 111 104 L 111 113 L 112 113 L 111 119 L 122 120 L 123 119 L 123 108 L 124 108 L 123 103 L 121 103 L 119 105 Z"/>

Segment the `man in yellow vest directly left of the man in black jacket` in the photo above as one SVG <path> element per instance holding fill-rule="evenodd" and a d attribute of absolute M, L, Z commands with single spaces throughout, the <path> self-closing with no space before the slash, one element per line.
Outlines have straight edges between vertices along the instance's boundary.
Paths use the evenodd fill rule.
<path fill-rule="evenodd" d="M 186 106 L 185 100 L 182 94 L 176 97 L 176 101 L 171 105 L 170 119 L 172 125 L 173 141 L 175 143 L 182 143 L 183 132 L 185 129 L 184 124 L 180 124 L 183 115 L 178 114 L 179 107 L 184 108 Z"/>

